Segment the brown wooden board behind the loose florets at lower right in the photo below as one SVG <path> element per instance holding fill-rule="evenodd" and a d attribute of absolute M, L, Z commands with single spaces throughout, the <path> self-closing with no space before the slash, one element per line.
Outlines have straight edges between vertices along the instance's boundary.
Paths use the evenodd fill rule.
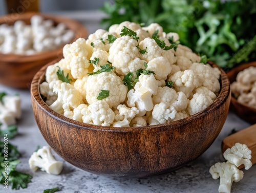
<path fill-rule="evenodd" d="M 251 125 L 244 130 L 234 133 L 222 141 L 222 152 L 227 148 L 231 148 L 234 144 L 246 144 L 251 149 L 251 162 L 256 163 L 256 124 Z"/>

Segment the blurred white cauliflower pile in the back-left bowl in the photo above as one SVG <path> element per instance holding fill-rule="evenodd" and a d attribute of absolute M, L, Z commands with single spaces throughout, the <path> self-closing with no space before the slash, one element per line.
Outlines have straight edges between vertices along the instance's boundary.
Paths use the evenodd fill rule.
<path fill-rule="evenodd" d="M 32 16 L 30 23 L 17 20 L 13 26 L 0 25 L 0 53 L 33 55 L 60 48 L 74 37 L 65 24 L 54 26 L 52 19 L 44 20 L 40 15 Z"/>

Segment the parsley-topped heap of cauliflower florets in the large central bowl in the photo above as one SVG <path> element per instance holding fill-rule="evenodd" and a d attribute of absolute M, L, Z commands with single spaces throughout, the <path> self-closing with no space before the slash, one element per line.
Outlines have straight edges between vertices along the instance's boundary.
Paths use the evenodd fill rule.
<path fill-rule="evenodd" d="M 158 24 L 123 22 L 63 48 L 40 93 L 50 108 L 84 123 L 129 127 L 194 115 L 220 91 L 220 70 Z"/>

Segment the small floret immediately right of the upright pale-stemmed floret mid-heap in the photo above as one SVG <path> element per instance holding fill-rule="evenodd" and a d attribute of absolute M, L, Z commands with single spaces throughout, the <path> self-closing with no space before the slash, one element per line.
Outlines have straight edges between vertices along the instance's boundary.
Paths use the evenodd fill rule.
<path fill-rule="evenodd" d="M 153 96 L 154 104 L 165 102 L 167 105 L 172 104 L 178 98 L 178 94 L 174 89 L 169 87 L 158 87 L 157 94 Z"/>

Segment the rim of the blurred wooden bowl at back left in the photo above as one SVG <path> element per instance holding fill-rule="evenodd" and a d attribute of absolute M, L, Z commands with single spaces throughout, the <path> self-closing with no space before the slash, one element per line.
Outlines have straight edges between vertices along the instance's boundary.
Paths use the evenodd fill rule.
<path fill-rule="evenodd" d="M 0 17 L 0 25 L 6 24 L 5 17 L 11 17 L 12 15 L 13 14 L 1 16 Z M 83 30 L 82 33 L 88 35 L 88 30 L 86 29 L 86 27 L 84 27 L 82 24 L 78 23 L 76 20 L 65 17 L 65 16 L 29 12 L 29 13 L 18 13 L 18 18 L 13 19 L 13 20 L 17 21 L 17 20 L 30 19 L 33 15 L 40 15 L 40 16 L 44 17 L 44 19 L 52 19 L 55 23 L 60 23 L 60 22 L 64 23 L 69 30 L 72 30 L 71 28 L 69 28 L 70 24 L 75 25 L 76 27 L 81 27 L 81 29 Z M 74 31 L 74 33 L 76 34 L 77 32 Z M 77 37 L 74 36 L 70 42 L 73 42 L 76 39 L 77 39 Z M 58 53 L 62 54 L 62 49 L 63 49 L 63 46 L 56 50 L 53 50 L 53 51 L 41 52 L 41 53 L 37 53 L 37 54 L 33 54 L 33 55 L 2 54 L 2 53 L 0 53 L 0 58 L 1 58 L 0 62 L 1 61 L 10 62 L 10 61 L 12 61 L 12 59 L 10 59 L 10 58 L 13 58 L 13 57 L 15 57 L 15 61 L 20 61 L 20 62 L 24 62 L 24 60 L 25 61 L 42 60 L 44 58 L 55 57 L 58 55 Z"/>

